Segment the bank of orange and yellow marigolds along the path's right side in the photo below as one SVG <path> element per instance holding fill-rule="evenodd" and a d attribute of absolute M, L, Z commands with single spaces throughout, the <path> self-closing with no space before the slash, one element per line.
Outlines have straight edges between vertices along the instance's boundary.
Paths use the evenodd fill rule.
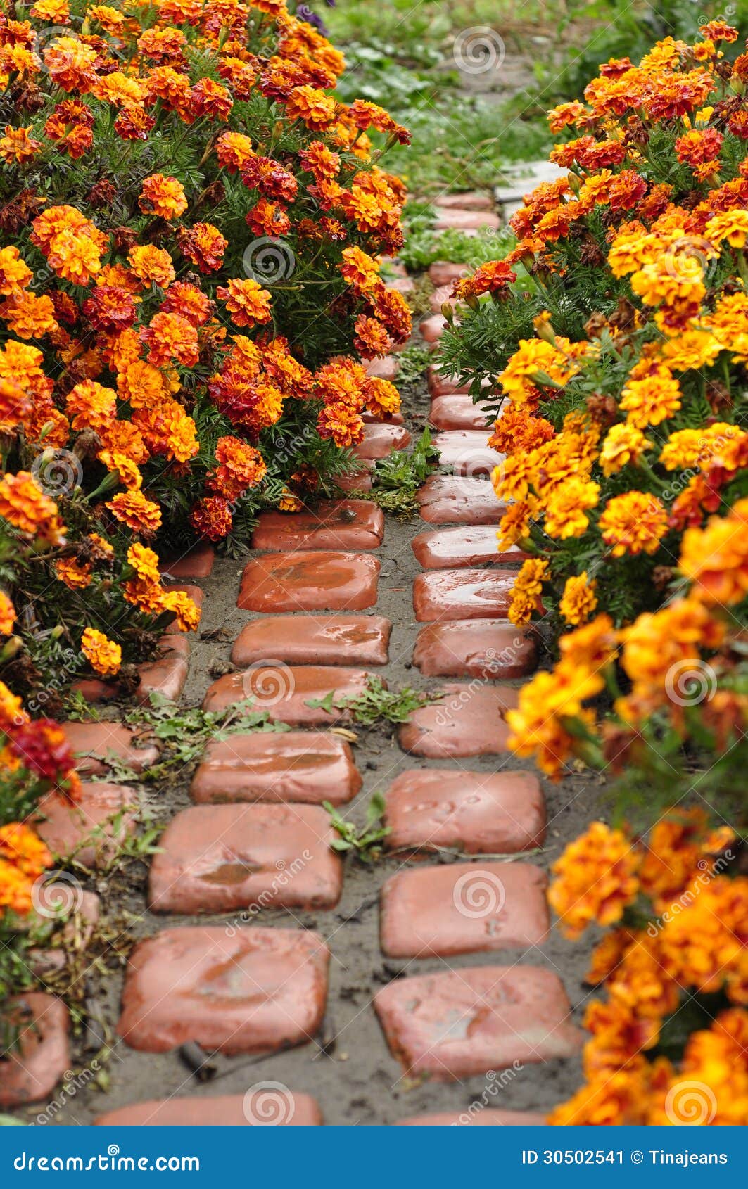
<path fill-rule="evenodd" d="M 458 282 L 469 308 L 442 340 L 476 395 L 488 378 L 507 400 L 491 438 L 507 455 L 492 477 L 507 503 L 498 536 L 532 554 L 510 617 L 539 621 L 558 656 L 508 712 L 510 744 L 554 779 L 579 761 L 612 769 L 628 822 L 596 824 L 558 866 L 552 897 L 573 935 L 621 923 L 595 961 L 610 995 L 587 1013 L 587 1086 L 558 1122 L 686 1121 L 671 1092 L 693 1076 L 709 1090 L 699 1121 L 747 1118 L 748 54 L 737 37 L 712 21 L 694 45 L 666 38 L 637 65 L 610 61 L 585 102 L 551 113 L 555 132 L 573 130 L 552 153 L 567 172 L 526 199 L 504 260 Z M 679 818 L 694 799 L 738 835 L 708 889 L 696 880 L 714 837 L 705 823 L 691 837 Z M 671 882 L 653 881 L 656 864 Z M 649 924 L 681 895 L 687 913 L 653 940 Z M 692 994 L 698 1020 L 683 1011 Z"/>

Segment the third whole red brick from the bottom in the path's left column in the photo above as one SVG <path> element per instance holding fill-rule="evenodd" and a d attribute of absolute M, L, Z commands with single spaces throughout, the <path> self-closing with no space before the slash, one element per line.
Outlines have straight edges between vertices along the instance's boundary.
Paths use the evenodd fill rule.
<path fill-rule="evenodd" d="M 326 731 L 254 731 L 214 740 L 190 787 L 194 801 L 350 801 L 362 778 L 351 748 Z"/>

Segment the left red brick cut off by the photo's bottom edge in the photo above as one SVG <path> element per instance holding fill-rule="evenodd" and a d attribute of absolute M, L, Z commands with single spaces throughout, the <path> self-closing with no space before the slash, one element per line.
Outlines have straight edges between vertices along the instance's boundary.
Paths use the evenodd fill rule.
<path fill-rule="evenodd" d="M 258 1082 L 246 1094 L 133 1102 L 99 1115 L 94 1127 L 319 1127 L 321 1122 L 312 1095 L 294 1094 L 281 1082 Z"/>

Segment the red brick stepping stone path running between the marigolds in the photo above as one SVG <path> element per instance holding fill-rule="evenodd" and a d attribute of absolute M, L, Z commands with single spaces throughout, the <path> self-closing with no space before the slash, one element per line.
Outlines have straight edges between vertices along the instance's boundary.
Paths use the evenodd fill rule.
<path fill-rule="evenodd" d="M 438 220 L 499 224 L 480 194 L 442 196 Z M 429 269 L 428 344 L 469 272 L 448 260 Z M 397 358 L 366 370 L 396 380 Z M 372 501 L 325 499 L 264 511 L 240 568 L 206 543 L 165 562 L 169 580 L 203 602 L 209 630 L 193 642 L 191 672 L 188 642 L 168 634 L 137 697 L 158 690 L 207 711 L 253 698 L 279 729 L 218 734 L 189 789 L 156 788 L 169 820 L 147 889 L 134 889 L 143 919 L 121 988 L 122 1068 L 109 1102 L 76 1101 L 82 1121 L 536 1126 L 560 1096 L 558 1067 L 549 1077 L 542 1065 L 576 1057 L 582 1034 L 546 956 L 559 831 L 536 773 L 508 751 L 502 717 L 535 668 L 536 642 L 507 619 L 524 555 L 497 551 L 503 508 L 489 477 L 502 455 L 485 428 L 497 402 L 486 391 L 473 404 L 434 366 L 426 378 L 441 467 L 417 492 L 420 522 L 385 526 Z M 360 468 L 341 490 L 369 490 L 375 461 L 420 434 L 404 413 L 408 428 L 403 417 L 366 423 Z M 360 696 L 372 675 L 434 700 L 369 735 L 333 703 Z M 95 685 L 84 688 L 92 700 L 117 697 Z M 138 792 L 113 784 L 114 772 L 151 767 L 159 748 L 117 722 L 69 723 L 65 734 L 82 798 L 71 807 L 50 794 L 40 831 L 61 860 L 95 867 L 134 825 Z M 382 861 L 362 864 L 333 845 L 323 803 L 360 826 L 375 791 L 388 832 Z M 547 835 L 552 855 L 540 853 Z M 25 1004 L 38 1026 L 0 1059 L 2 1108 L 48 1097 L 71 1062 L 62 1002 Z M 203 1057 L 220 1069 L 214 1086 L 194 1075 Z M 502 1097 L 486 1097 L 502 1070 Z M 345 1080 L 342 1106 L 329 1101 L 331 1076 Z"/>

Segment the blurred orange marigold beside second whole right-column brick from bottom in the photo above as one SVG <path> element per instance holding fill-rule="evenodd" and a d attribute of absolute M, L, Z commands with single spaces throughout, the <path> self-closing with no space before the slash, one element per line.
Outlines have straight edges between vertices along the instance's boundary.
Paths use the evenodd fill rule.
<path fill-rule="evenodd" d="M 551 907 L 567 937 L 587 925 L 615 925 L 639 894 L 641 854 L 621 830 L 593 822 L 553 864 Z"/>

